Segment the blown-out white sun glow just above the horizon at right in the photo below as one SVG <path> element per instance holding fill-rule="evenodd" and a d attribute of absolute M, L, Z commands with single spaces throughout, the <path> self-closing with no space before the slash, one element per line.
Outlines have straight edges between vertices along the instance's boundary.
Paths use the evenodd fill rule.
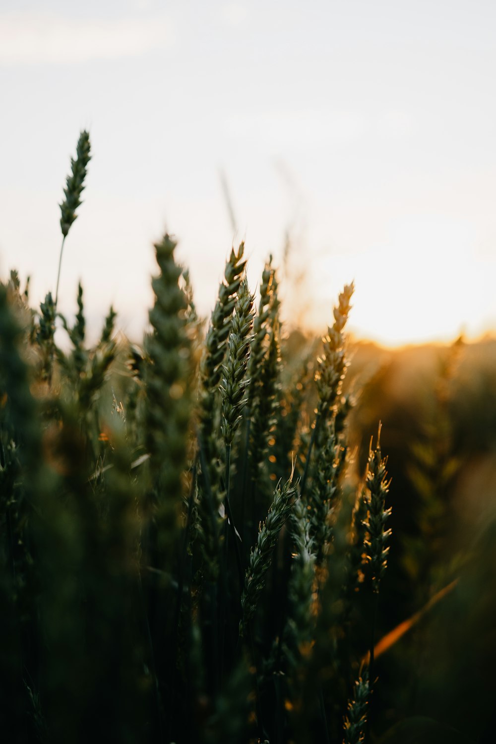
<path fill-rule="evenodd" d="M 318 325 L 325 312 L 329 276 L 339 274 L 355 280 L 351 324 L 360 338 L 396 346 L 488 332 L 495 322 L 487 300 L 492 265 L 471 247 L 472 232 L 456 222 L 405 221 L 390 243 L 370 248 L 358 261 L 346 254 L 324 258 L 314 279 L 318 312 L 309 313 L 310 324 Z"/>

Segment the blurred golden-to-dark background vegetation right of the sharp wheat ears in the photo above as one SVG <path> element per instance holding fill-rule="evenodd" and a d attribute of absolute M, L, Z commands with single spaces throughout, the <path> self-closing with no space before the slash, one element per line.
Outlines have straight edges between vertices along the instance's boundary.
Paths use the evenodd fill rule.
<path fill-rule="evenodd" d="M 289 333 L 288 377 L 305 367 L 312 345 Z M 374 725 L 385 731 L 415 716 L 411 730 L 395 726 L 384 742 L 455 741 L 457 731 L 483 741 L 496 698 L 496 341 L 398 349 L 350 341 L 349 357 L 350 446 L 363 472 L 382 423 L 393 507 Z M 316 399 L 306 394 L 310 420 Z M 436 729 L 434 719 L 457 731 Z"/>

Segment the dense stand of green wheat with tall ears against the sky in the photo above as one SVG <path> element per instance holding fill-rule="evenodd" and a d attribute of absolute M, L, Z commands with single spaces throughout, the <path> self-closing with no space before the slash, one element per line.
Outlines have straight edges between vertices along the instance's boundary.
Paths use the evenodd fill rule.
<path fill-rule="evenodd" d="M 323 339 L 290 333 L 241 243 L 205 320 L 165 234 L 151 330 L 111 307 L 88 346 L 83 287 L 74 321 L 57 298 L 90 152 L 81 132 L 54 295 L 0 286 L 2 741 L 487 740 L 495 523 L 454 544 L 448 506 L 463 344 L 395 424 L 352 283 Z"/>

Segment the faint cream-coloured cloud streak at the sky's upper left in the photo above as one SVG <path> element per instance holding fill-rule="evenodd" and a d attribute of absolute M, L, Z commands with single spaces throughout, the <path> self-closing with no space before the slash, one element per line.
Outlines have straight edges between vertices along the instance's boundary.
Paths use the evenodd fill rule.
<path fill-rule="evenodd" d="M 80 20 L 62 16 L 0 14 L 0 65 L 71 64 L 138 57 L 170 47 L 173 25 L 164 16 Z"/>

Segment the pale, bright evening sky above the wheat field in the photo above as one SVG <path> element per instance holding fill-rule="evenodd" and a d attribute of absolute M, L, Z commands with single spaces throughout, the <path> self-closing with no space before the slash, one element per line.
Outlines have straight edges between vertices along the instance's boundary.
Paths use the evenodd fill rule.
<path fill-rule="evenodd" d="M 59 308 L 82 280 L 93 329 L 112 302 L 140 338 L 169 231 L 204 315 L 245 240 L 288 323 L 325 330 L 354 280 L 358 338 L 492 331 L 495 33 L 492 0 L 2 0 L 0 275 L 54 291 L 86 128 Z"/>

